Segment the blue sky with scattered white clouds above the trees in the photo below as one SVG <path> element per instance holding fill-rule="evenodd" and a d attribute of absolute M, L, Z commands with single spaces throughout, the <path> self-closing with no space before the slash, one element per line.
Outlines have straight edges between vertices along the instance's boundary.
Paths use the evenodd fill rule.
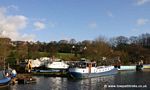
<path fill-rule="evenodd" d="M 150 0 L 0 0 L 0 37 L 93 40 L 150 33 Z"/>

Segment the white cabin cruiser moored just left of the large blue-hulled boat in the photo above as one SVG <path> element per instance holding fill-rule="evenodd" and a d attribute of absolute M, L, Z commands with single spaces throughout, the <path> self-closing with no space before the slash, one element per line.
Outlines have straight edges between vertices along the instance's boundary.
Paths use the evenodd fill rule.
<path fill-rule="evenodd" d="M 68 69 L 69 65 L 66 64 L 64 61 L 57 59 L 56 61 L 48 63 L 46 67 L 49 69 Z"/>

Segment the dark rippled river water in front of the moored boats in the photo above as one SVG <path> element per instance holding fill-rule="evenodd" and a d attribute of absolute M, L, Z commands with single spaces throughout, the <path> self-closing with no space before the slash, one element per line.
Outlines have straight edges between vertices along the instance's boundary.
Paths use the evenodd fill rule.
<path fill-rule="evenodd" d="M 0 90 L 150 90 L 150 71 L 121 71 L 116 75 L 75 80 L 34 76 L 34 84 L 16 84 Z"/>

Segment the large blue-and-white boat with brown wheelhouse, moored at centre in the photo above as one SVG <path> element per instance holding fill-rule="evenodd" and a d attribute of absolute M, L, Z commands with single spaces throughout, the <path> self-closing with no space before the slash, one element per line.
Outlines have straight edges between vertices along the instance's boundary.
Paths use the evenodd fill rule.
<path fill-rule="evenodd" d="M 80 61 L 69 68 L 69 74 L 74 78 L 90 78 L 117 73 L 114 66 L 96 66 L 96 62 Z"/>

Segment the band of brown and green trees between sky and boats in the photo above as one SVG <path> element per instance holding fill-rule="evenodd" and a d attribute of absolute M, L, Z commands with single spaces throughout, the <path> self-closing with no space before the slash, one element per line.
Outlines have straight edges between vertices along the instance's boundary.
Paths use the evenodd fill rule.
<path fill-rule="evenodd" d="M 98 37 L 95 40 L 76 41 L 75 39 L 50 42 L 11 41 L 0 38 L 0 64 L 18 64 L 25 59 L 57 57 L 58 53 L 72 54 L 64 60 L 87 58 L 99 64 L 112 64 L 118 58 L 122 64 L 135 64 L 139 60 L 150 63 L 150 34 L 139 36 L 118 36 L 107 40 Z M 4 60 L 6 62 L 4 62 Z"/>

